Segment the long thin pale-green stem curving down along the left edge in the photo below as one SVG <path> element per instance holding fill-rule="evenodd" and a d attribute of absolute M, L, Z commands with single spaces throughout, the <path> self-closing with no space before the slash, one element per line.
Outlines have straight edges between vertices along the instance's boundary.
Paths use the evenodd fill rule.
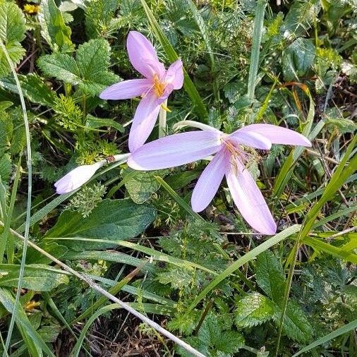
<path fill-rule="evenodd" d="M 20 97 L 21 107 L 23 109 L 23 121 L 25 124 L 25 135 L 26 135 L 26 153 L 27 153 L 27 166 L 28 166 L 28 203 L 26 207 L 26 222 L 25 222 L 25 234 L 23 241 L 23 256 L 21 258 L 20 264 L 20 274 L 18 277 L 18 290 L 16 291 L 15 303 L 13 304 L 13 313 L 11 315 L 10 325 L 8 327 L 8 335 L 6 337 L 5 349 L 3 356 L 7 355 L 8 346 L 10 346 L 11 335 L 13 332 L 13 325 L 15 324 L 16 318 L 16 307 L 18 306 L 18 301 L 20 299 L 20 291 L 21 285 L 23 284 L 23 273 L 25 271 L 25 261 L 26 261 L 26 253 L 28 250 L 28 236 L 30 232 L 30 217 L 31 217 L 31 195 L 32 195 L 32 157 L 31 157 L 31 141 L 30 141 L 30 127 L 28 125 L 28 114 L 26 112 L 25 99 L 23 97 L 23 90 L 21 89 L 20 81 L 18 80 L 18 75 L 13 66 L 13 61 L 11 60 L 8 51 L 4 45 L 4 42 L 0 40 L 0 47 L 3 50 L 6 60 L 8 61 L 8 65 L 11 68 L 11 72 L 13 73 L 13 78 L 16 82 L 16 87 L 18 88 L 18 95 Z"/>

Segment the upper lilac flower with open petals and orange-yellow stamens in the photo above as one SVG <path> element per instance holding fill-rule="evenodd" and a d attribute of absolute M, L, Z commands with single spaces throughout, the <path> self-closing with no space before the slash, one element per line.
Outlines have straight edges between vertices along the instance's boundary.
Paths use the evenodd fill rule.
<path fill-rule="evenodd" d="M 145 78 L 124 80 L 111 85 L 99 97 L 129 99 L 141 96 L 129 134 L 129 150 L 134 152 L 149 137 L 155 126 L 160 107 L 173 90 L 183 85 L 182 61 L 178 59 L 165 70 L 157 58 L 155 48 L 140 32 L 131 31 L 126 42 L 131 64 Z"/>

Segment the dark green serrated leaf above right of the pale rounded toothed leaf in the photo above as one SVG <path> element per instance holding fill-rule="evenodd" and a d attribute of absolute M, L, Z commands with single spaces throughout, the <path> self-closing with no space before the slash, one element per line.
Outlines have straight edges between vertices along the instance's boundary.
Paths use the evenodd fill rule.
<path fill-rule="evenodd" d="M 282 263 L 270 250 L 265 250 L 258 255 L 255 273 L 260 289 L 279 305 L 284 298 L 285 287 Z"/>

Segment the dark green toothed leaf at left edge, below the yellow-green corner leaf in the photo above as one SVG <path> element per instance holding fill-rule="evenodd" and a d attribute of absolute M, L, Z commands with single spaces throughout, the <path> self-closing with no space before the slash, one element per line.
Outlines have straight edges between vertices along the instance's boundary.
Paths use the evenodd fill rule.
<path fill-rule="evenodd" d="M 44 83 L 43 78 L 35 73 L 30 73 L 28 75 L 19 74 L 18 79 L 20 80 L 23 95 L 30 100 L 30 102 L 52 107 L 54 99 L 56 98 L 56 92 L 51 90 L 46 83 Z M 18 94 L 15 80 L 12 77 L 0 80 L 0 85 L 4 89 Z"/>

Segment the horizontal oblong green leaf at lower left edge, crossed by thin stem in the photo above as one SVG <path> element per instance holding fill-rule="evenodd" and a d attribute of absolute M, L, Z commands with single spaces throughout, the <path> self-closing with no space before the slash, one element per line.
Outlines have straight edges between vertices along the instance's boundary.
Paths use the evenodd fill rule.
<path fill-rule="evenodd" d="M 18 286 L 20 265 L 0 264 L 0 286 Z M 25 266 L 22 286 L 35 291 L 50 291 L 59 284 L 68 283 L 68 273 L 42 264 Z"/>

